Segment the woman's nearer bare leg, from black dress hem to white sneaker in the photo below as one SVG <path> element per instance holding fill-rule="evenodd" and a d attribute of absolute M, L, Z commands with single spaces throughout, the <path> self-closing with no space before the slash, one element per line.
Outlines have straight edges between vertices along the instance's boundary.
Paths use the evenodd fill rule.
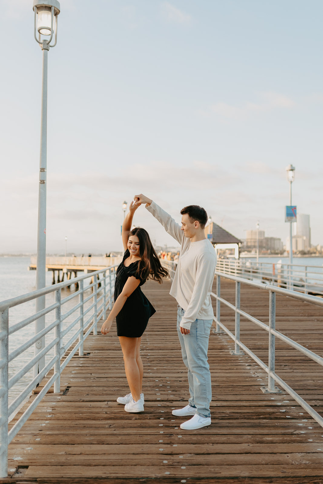
<path fill-rule="evenodd" d="M 128 338 L 127 336 L 119 336 L 123 352 L 123 361 L 125 376 L 128 380 L 128 385 L 133 399 L 137 402 L 140 399 L 140 371 L 136 361 L 137 358 L 137 342 L 138 338 Z"/>

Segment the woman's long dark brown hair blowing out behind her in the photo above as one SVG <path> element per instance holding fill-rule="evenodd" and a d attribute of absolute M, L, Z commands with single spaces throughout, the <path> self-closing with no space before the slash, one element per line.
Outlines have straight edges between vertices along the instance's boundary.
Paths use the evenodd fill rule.
<path fill-rule="evenodd" d="M 147 230 L 141 227 L 135 227 L 129 233 L 129 237 L 133 235 L 136 235 L 139 239 L 139 255 L 141 260 L 138 264 L 137 273 L 140 279 L 143 281 L 153 279 L 161 284 L 163 277 L 170 276 L 168 270 L 160 264 Z"/>

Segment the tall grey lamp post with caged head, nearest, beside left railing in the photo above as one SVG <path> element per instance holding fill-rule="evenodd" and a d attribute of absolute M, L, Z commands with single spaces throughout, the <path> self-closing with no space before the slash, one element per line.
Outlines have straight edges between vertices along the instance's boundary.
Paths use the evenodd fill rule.
<path fill-rule="evenodd" d="M 38 232 L 37 232 L 37 269 L 36 289 L 46 286 L 46 161 L 47 161 L 47 54 L 49 47 L 57 41 L 57 16 L 61 7 L 57 0 L 34 0 L 34 37 L 43 51 L 42 111 L 40 129 L 40 166 L 38 193 Z M 38 38 L 37 38 L 38 32 Z M 54 44 L 50 44 L 55 32 Z M 47 36 L 47 38 L 46 38 Z M 49 36 L 49 38 L 48 38 Z M 36 313 L 45 308 L 45 296 L 36 299 Z M 45 328 L 45 316 L 35 321 L 35 334 Z M 34 355 L 45 347 L 45 336 L 36 341 Z M 33 367 L 33 377 L 45 366 L 45 356 Z"/>

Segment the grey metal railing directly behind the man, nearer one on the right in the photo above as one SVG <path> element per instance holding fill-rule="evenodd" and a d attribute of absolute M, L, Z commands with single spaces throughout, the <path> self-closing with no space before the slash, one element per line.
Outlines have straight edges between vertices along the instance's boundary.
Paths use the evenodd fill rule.
<path fill-rule="evenodd" d="M 173 279 L 173 274 L 176 270 L 176 264 L 174 262 L 161 260 L 161 264 L 171 269 L 171 278 Z M 235 282 L 235 304 L 227 301 L 224 298 L 221 298 L 221 277 L 225 279 L 229 279 Z M 291 397 L 308 412 L 308 414 L 316 420 L 323 427 L 323 417 L 317 413 L 314 408 L 312 408 L 298 393 L 296 393 L 282 378 L 280 378 L 277 373 L 275 372 L 275 340 L 276 337 L 286 343 L 287 345 L 295 348 L 303 355 L 307 356 L 314 362 L 323 366 L 323 358 L 310 351 L 308 348 L 300 345 L 296 341 L 292 340 L 291 338 L 285 336 L 283 333 L 280 333 L 276 330 L 276 294 L 281 294 L 283 296 L 288 296 L 293 299 L 297 299 L 303 302 L 309 302 L 311 304 L 315 304 L 317 306 L 323 307 L 323 299 L 317 296 L 311 296 L 309 294 L 302 294 L 297 291 L 292 291 L 289 289 L 285 289 L 283 287 L 273 286 L 271 284 L 263 284 L 260 282 L 249 281 L 247 279 L 242 279 L 241 277 L 237 277 L 234 275 L 223 274 L 221 272 L 215 272 L 216 278 L 216 294 L 211 292 L 211 296 L 216 300 L 216 312 L 215 312 L 215 334 L 222 333 L 223 330 L 230 338 L 234 341 L 234 353 L 233 355 L 242 355 L 244 354 L 241 350 L 245 351 L 259 366 L 268 374 L 268 386 L 261 387 L 261 390 L 264 393 L 280 393 L 277 387 L 275 387 L 275 382 L 277 382 L 287 393 L 291 395 Z M 258 289 L 262 289 L 268 291 L 269 293 L 269 325 L 263 323 L 259 319 L 253 317 L 252 315 L 246 313 L 245 311 L 241 310 L 241 284 L 245 284 L 246 286 L 257 287 Z M 233 314 L 234 314 L 234 333 L 232 333 L 222 322 L 221 322 L 221 303 L 228 306 Z M 240 316 L 246 318 L 247 320 L 253 322 L 261 329 L 266 331 L 269 334 L 269 341 L 268 341 L 268 364 L 261 361 L 261 359 L 249 349 L 244 343 L 240 341 Z"/>

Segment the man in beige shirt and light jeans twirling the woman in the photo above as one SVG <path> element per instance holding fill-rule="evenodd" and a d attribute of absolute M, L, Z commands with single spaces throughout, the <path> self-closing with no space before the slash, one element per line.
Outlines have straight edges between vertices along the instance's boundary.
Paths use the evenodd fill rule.
<path fill-rule="evenodd" d="M 144 195 L 136 195 L 136 204 L 146 209 L 165 230 L 181 244 L 180 256 L 170 295 L 178 302 L 177 333 L 187 368 L 190 398 L 184 408 L 172 414 L 192 418 L 181 424 L 184 430 L 195 430 L 211 424 L 211 374 L 207 362 L 213 308 L 210 293 L 215 275 L 216 255 L 205 238 L 207 213 L 198 205 L 181 210 L 182 227 L 156 203 Z"/>

